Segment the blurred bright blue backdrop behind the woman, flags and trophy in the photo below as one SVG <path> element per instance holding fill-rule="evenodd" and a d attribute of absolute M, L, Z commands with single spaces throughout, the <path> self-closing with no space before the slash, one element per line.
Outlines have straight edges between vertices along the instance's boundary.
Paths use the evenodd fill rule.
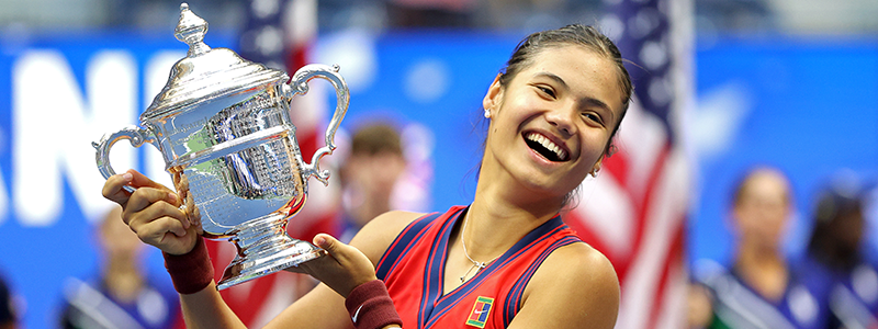
<path fill-rule="evenodd" d="M 313 63 L 340 64 L 350 83 L 344 128 L 375 115 L 418 127 L 431 170 L 428 202 L 419 207 L 429 209 L 472 197 L 481 99 L 516 43 L 544 27 L 598 23 L 604 5 L 438 2 L 446 7 L 418 16 L 407 1 L 319 1 L 309 55 Z M 878 2 L 690 4 L 697 105 L 684 125 L 695 179 L 689 261 L 728 260 L 730 190 L 759 163 L 791 178 L 796 214 L 786 246 L 790 254 L 801 252 L 817 190 L 842 173 L 870 185 L 878 173 Z M 249 2 L 190 5 L 211 24 L 209 45 L 239 50 Z M 0 0 L 0 275 L 26 328 L 55 328 L 66 277 L 89 277 L 98 268 L 93 226 L 108 202 L 89 143 L 135 124 L 170 65 L 184 56 L 172 36 L 178 8 L 173 1 Z M 16 110 L 35 103 L 45 107 Z M 148 172 L 155 150 L 147 148 L 121 150 L 130 154 L 116 166 Z M 324 189 L 315 181 L 311 188 Z M 867 217 L 873 245 L 875 214 Z M 160 256 L 150 250 L 147 263 L 168 285 Z"/>

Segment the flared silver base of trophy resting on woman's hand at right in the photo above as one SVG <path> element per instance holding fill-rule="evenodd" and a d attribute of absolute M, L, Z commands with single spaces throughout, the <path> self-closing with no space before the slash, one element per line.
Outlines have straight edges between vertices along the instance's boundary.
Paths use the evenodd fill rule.
<path fill-rule="evenodd" d="M 254 222 L 256 223 L 241 228 L 237 237 L 232 238 L 238 247 L 238 253 L 223 272 L 223 279 L 216 284 L 217 290 L 299 265 L 325 253 L 323 249 L 309 242 L 291 238 L 285 229 L 277 229 L 278 224 L 285 228 L 286 218 L 275 217 Z M 256 242 L 245 246 L 243 241 L 247 239 L 239 239 L 241 236 L 259 238 Z"/>

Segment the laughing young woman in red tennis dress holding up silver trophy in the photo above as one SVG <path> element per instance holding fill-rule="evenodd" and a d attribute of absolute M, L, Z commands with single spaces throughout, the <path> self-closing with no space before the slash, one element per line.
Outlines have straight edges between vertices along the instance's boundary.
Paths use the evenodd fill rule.
<path fill-rule="evenodd" d="M 484 97 L 489 124 L 472 204 L 386 213 L 350 246 L 317 236 L 331 257 L 291 270 L 324 284 L 267 327 L 612 328 L 616 272 L 559 212 L 600 170 L 631 90 L 619 50 L 595 29 L 528 36 Z M 191 277 L 210 263 L 194 256 L 203 242 L 172 191 L 128 171 L 110 178 L 103 195 L 166 253 L 190 328 L 244 327 L 210 279 Z"/>

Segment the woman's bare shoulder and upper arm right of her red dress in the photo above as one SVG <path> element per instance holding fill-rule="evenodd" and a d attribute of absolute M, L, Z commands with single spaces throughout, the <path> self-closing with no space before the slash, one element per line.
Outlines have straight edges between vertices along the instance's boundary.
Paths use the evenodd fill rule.
<path fill-rule="evenodd" d="M 525 288 L 509 328 L 606 328 L 619 311 L 619 280 L 609 260 L 585 243 L 559 248 Z"/>

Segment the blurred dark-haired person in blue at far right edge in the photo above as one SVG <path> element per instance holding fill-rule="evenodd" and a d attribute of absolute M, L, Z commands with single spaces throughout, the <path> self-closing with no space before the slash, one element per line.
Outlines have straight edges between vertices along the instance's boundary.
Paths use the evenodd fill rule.
<path fill-rule="evenodd" d="M 830 328 L 878 328 L 878 263 L 865 243 L 863 194 L 857 182 L 821 191 L 802 268 L 829 285 Z"/>

